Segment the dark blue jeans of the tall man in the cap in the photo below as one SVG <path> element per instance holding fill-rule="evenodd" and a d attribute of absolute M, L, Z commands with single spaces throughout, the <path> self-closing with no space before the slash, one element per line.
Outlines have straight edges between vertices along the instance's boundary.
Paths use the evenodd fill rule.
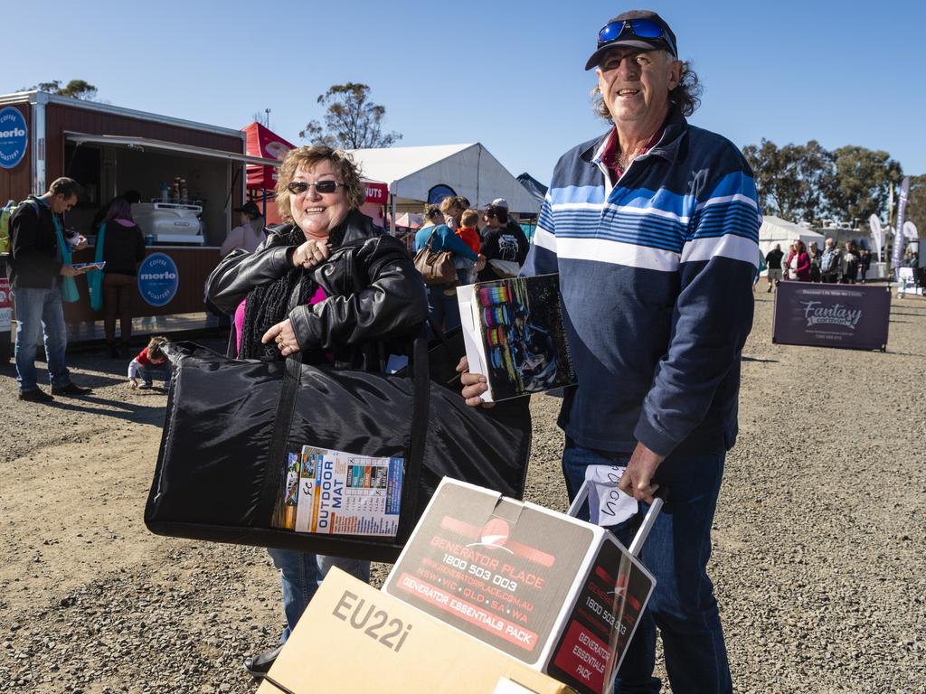
<path fill-rule="evenodd" d="M 582 487 L 586 466 L 627 465 L 629 458 L 567 441 L 563 474 L 569 500 Z M 640 552 L 640 560 L 656 576 L 657 585 L 618 671 L 615 692 L 659 691 L 661 682 L 653 676 L 657 627 L 675 694 L 732 691 L 720 614 L 707 577 L 710 527 L 724 458 L 723 453 L 673 455 L 659 466 L 656 481 L 669 489 L 669 501 Z M 641 502 L 638 514 L 609 528 L 625 547 L 647 509 Z"/>

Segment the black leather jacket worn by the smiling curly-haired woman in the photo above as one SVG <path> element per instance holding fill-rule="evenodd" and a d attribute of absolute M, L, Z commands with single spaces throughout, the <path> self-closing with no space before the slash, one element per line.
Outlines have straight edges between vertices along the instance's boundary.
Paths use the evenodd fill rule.
<path fill-rule="evenodd" d="M 294 246 L 281 232 L 290 229 L 271 231 L 254 253 L 238 250 L 222 260 L 208 279 L 209 300 L 233 314 L 249 291 L 289 272 Z M 328 298 L 313 306 L 290 300 L 299 348 L 332 352 L 337 365 L 378 370 L 382 343 L 414 335 L 427 319 L 424 282 L 405 246 L 357 210 L 329 240 L 331 256 L 311 270 Z"/>

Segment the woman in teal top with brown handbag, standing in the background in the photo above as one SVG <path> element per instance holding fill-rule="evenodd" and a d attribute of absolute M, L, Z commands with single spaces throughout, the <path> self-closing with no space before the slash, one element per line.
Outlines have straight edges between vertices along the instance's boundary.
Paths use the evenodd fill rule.
<path fill-rule="evenodd" d="M 480 255 L 444 224 L 437 205 L 424 208 L 424 226 L 415 234 L 415 266 L 428 285 L 428 309 L 434 324 L 444 332 L 460 325 L 457 304 L 457 257 L 476 263 Z M 445 268 L 445 272 L 443 271 Z"/>

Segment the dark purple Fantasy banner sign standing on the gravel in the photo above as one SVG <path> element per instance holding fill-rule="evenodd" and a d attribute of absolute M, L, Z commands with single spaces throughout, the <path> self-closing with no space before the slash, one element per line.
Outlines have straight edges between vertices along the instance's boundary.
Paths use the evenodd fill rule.
<path fill-rule="evenodd" d="M 883 286 L 782 281 L 771 341 L 883 350 L 890 316 L 891 292 Z"/>

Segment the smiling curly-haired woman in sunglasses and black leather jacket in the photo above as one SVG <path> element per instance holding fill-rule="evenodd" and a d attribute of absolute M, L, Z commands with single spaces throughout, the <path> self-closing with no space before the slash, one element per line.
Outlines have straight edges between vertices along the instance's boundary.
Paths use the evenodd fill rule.
<path fill-rule="evenodd" d="M 231 355 L 379 370 L 382 342 L 420 328 L 427 318 L 420 276 L 405 246 L 359 212 L 365 195 L 344 152 L 314 146 L 286 155 L 276 199 L 287 223 L 254 253 L 233 252 L 208 280 L 210 301 L 235 315 Z M 268 552 L 281 573 L 282 643 L 332 565 L 369 579 L 369 562 Z M 266 674 L 281 648 L 249 656 L 245 668 Z"/>

